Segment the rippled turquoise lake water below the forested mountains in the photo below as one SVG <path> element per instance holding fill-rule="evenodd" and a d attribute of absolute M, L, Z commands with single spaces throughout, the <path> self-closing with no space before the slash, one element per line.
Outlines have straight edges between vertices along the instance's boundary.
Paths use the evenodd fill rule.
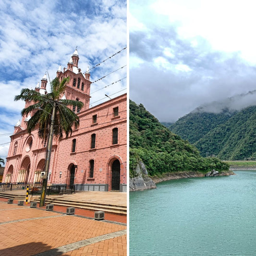
<path fill-rule="evenodd" d="M 130 192 L 130 256 L 255 256 L 256 171 Z"/>

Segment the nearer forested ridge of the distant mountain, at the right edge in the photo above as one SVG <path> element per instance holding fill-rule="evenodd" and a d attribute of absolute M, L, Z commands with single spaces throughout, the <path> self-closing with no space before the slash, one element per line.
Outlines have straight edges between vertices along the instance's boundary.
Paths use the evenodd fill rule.
<path fill-rule="evenodd" d="M 236 112 L 194 145 L 202 156 L 215 155 L 222 160 L 256 160 L 256 106 Z"/>

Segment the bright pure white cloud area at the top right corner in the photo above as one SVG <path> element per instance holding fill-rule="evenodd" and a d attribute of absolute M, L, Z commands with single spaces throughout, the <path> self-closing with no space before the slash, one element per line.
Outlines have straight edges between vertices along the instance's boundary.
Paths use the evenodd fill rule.
<path fill-rule="evenodd" d="M 207 39 L 214 50 L 240 51 L 241 56 L 252 64 L 256 63 L 256 36 L 253 0 L 157 0 L 149 9 L 158 15 L 165 15 L 169 23 L 177 26 L 180 37 L 191 38 L 200 35 Z M 162 19 L 152 23 L 161 24 Z"/>

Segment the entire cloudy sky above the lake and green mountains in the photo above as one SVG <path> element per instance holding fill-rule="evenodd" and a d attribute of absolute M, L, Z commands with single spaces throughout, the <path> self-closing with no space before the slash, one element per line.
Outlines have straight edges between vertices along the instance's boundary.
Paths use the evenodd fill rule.
<path fill-rule="evenodd" d="M 255 5 L 130 0 L 130 98 L 175 122 L 199 105 L 254 91 Z M 256 91 L 250 100 L 256 104 Z"/>

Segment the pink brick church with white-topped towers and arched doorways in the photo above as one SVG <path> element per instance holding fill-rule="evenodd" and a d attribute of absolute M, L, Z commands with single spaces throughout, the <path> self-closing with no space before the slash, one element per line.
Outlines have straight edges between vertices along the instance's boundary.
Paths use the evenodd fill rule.
<path fill-rule="evenodd" d="M 90 73 L 78 68 L 79 56 L 74 51 L 67 68 L 57 77 L 70 77 L 62 98 L 79 100 L 82 109 L 73 108 L 80 119 L 78 129 L 68 138 L 54 138 L 51 149 L 48 184 L 75 185 L 80 191 L 126 192 L 127 184 L 127 96 L 123 94 L 95 107 L 90 103 Z M 35 90 L 47 94 L 47 77 Z M 30 103 L 26 102 L 25 107 Z M 33 115 L 33 113 L 31 113 Z M 41 182 L 45 168 L 46 141 L 38 138 L 37 130 L 26 131 L 31 115 L 14 126 L 4 183 Z"/>

